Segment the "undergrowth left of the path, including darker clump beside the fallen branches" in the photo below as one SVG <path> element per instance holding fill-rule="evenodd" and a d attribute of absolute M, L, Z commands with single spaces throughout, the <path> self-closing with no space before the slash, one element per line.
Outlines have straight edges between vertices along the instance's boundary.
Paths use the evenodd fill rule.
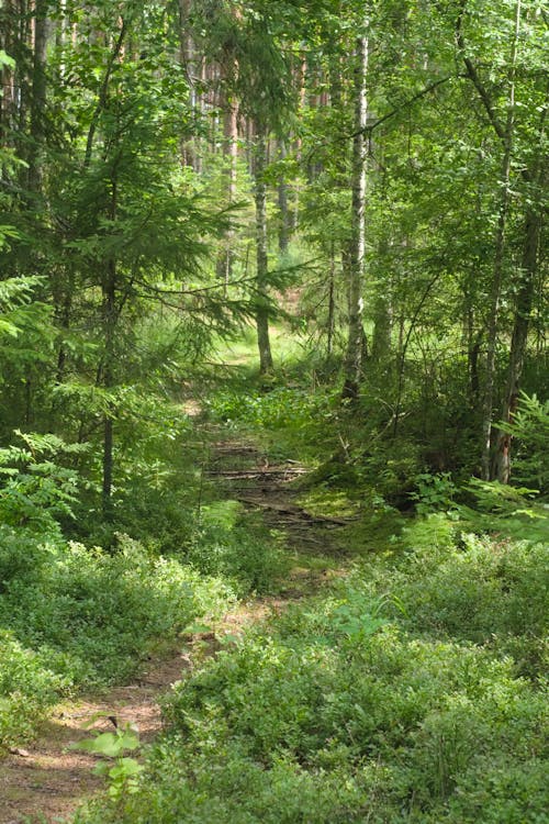
<path fill-rule="evenodd" d="M 160 639 L 278 591 L 291 563 L 282 537 L 231 500 L 183 510 L 164 556 L 123 533 L 108 549 L 67 541 L 46 515 L 40 528 L 0 526 L 0 749 L 32 737 L 60 699 L 127 681 Z"/>

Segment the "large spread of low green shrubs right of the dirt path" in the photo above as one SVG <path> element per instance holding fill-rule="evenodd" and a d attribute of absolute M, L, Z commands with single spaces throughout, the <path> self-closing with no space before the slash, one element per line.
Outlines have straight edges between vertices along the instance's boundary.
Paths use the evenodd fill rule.
<path fill-rule="evenodd" d="M 137 792 L 79 824 L 545 824 L 547 546 L 399 541 L 177 684 Z"/>

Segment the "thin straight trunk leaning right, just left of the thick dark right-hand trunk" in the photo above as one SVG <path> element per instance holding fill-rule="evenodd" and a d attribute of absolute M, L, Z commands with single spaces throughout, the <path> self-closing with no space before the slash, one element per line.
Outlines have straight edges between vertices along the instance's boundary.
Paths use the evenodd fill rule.
<path fill-rule="evenodd" d="M 484 386 L 483 422 L 482 422 L 482 477 L 491 477 L 492 449 L 492 414 L 494 394 L 495 353 L 497 346 L 497 327 L 500 320 L 500 303 L 502 296 L 505 230 L 509 205 L 509 172 L 513 152 L 513 132 L 515 123 L 515 66 L 516 48 L 520 25 L 520 0 L 516 4 L 515 30 L 511 45 L 511 60 L 508 70 L 507 119 L 503 144 L 502 169 L 500 175 L 501 199 L 495 234 L 494 271 L 492 276 L 492 291 L 490 299 L 490 318 L 488 324 L 486 380 Z"/>

